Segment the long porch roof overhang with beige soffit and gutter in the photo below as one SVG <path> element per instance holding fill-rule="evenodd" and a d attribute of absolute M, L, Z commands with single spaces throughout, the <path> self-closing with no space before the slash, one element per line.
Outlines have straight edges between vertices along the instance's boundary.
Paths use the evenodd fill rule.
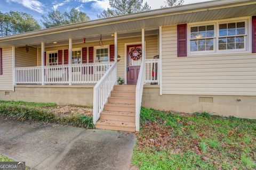
<path fill-rule="evenodd" d="M 37 45 L 68 38 L 93 38 L 100 34 L 107 36 L 113 32 L 136 32 L 141 28 L 150 30 L 179 23 L 252 16 L 256 15 L 255 8 L 255 0 L 216 0 L 188 4 L 6 36 L 0 38 L 0 47 Z"/>

